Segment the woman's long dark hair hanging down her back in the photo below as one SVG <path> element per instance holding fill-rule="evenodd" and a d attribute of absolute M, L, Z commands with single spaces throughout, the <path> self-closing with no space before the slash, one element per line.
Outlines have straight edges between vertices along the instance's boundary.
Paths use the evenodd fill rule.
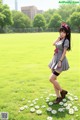
<path fill-rule="evenodd" d="M 68 47 L 68 51 L 71 50 L 71 29 L 69 26 L 65 27 L 65 26 L 61 26 L 59 29 L 59 32 L 65 32 L 66 33 L 66 37 L 64 39 L 64 42 L 66 39 L 69 40 L 69 47 Z M 62 44 L 62 46 L 64 46 L 64 42 Z"/>

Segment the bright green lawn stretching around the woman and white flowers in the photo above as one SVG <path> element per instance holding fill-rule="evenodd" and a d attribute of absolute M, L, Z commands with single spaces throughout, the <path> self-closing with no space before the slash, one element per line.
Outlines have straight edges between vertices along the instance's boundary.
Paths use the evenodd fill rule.
<path fill-rule="evenodd" d="M 41 116 L 30 113 L 29 109 L 22 112 L 19 109 L 35 98 L 39 98 L 38 105 L 48 107 L 40 96 L 46 98 L 54 93 L 48 64 L 54 52 L 52 43 L 57 37 L 58 33 L 0 34 L 0 112 L 9 112 L 9 120 L 46 120 L 51 115 L 46 109 Z M 70 69 L 58 77 L 64 89 L 78 96 L 75 105 L 80 104 L 79 47 L 80 34 L 72 33 L 72 50 L 67 52 Z M 80 120 L 80 116 L 76 117 L 80 113 L 79 105 L 78 109 L 74 115 L 65 112 L 52 116 L 54 120 Z"/>

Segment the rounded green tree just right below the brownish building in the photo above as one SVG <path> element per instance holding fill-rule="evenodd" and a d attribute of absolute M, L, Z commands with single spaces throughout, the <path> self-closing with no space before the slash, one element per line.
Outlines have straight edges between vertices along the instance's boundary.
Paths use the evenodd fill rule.
<path fill-rule="evenodd" d="M 33 26 L 38 28 L 45 28 L 46 21 L 42 14 L 37 14 L 33 20 Z"/>

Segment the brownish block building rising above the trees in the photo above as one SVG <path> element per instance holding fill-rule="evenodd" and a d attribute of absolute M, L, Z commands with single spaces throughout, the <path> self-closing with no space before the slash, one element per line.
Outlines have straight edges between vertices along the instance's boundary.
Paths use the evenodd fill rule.
<path fill-rule="evenodd" d="M 43 13 L 43 10 L 38 10 L 35 6 L 24 6 L 21 7 L 21 11 L 28 15 L 32 20 L 34 19 L 34 16 L 38 13 Z"/>

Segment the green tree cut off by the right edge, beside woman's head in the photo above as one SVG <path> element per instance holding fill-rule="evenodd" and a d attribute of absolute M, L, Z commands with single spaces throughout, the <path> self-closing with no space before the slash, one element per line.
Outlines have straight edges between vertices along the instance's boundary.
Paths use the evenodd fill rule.
<path fill-rule="evenodd" d="M 69 19 L 70 24 L 73 26 L 73 28 L 77 28 L 80 32 L 80 12 L 74 12 Z"/>

